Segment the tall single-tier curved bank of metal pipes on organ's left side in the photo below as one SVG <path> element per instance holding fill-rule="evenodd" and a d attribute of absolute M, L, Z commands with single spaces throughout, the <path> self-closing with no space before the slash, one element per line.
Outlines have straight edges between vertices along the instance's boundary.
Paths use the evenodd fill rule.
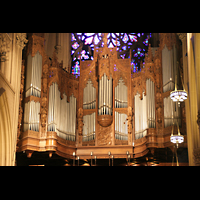
<path fill-rule="evenodd" d="M 60 98 L 57 83 L 49 88 L 48 131 L 55 131 L 57 135 L 66 140 L 75 141 L 76 132 L 76 98 L 64 94 Z"/>

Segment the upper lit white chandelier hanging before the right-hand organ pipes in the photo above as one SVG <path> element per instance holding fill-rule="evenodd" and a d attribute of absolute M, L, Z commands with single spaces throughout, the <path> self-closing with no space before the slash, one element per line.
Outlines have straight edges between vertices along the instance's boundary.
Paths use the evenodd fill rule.
<path fill-rule="evenodd" d="M 179 68 L 179 63 L 177 61 L 177 72 L 178 72 L 178 68 Z M 180 75 L 180 76 L 181 76 L 181 82 L 183 85 L 183 90 L 177 90 L 177 74 L 178 73 L 176 73 L 175 90 L 170 93 L 170 98 L 173 102 L 178 102 L 178 104 L 180 105 L 180 102 L 183 102 L 187 99 L 187 92 L 185 91 L 182 75 Z"/>

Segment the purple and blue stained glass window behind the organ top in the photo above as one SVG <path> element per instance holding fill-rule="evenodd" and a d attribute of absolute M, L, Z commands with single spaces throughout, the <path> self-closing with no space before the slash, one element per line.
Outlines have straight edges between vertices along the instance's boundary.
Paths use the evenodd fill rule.
<path fill-rule="evenodd" d="M 93 51 L 95 47 L 103 47 L 102 33 L 72 33 L 71 34 L 71 73 L 76 77 L 80 75 L 80 60 L 93 60 Z M 148 40 L 151 33 L 108 33 L 108 48 L 117 45 L 118 58 L 130 58 L 133 73 L 141 70 L 142 61 L 148 48 Z"/>

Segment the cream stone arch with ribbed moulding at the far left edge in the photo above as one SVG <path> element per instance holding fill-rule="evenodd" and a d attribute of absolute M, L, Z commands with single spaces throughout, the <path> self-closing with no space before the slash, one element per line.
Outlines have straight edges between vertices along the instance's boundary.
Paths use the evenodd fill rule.
<path fill-rule="evenodd" d="M 0 166 L 11 165 L 11 121 L 6 91 L 0 88 Z"/>

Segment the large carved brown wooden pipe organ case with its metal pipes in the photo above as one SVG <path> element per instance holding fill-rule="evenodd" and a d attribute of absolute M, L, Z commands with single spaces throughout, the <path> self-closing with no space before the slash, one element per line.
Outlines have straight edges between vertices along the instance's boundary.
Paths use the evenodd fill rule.
<path fill-rule="evenodd" d="M 103 41 L 107 44 L 107 34 Z M 176 34 L 160 34 L 159 47 L 149 45 L 144 66 L 133 73 L 131 57 L 118 59 L 116 47 L 104 45 L 94 50 L 93 60 L 80 61 L 80 77 L 75 78 L 58 63 L 56 51 L 52 60 L 48 59 L 44 36 L 32 34 L 24 65 L 27 70 L 28 65 L 32 66 L 33 73 L 33 59 L 38 56 L 37 70 L 41 72 L 34 73 L 41 76 L 41 83 L 33 86 L 34 81 L 26 81 L 27 95 L 21 98 L 24 119 L 20 118 L 24 128 L 18 130 L 17 151 L 26 151 L 29 157 L 34 151 L 46 151 L 50 157 L 55 153 L 70 159 L 73 152 L 76 159 L 77 156 L 90 159 L 92 152 L 101 159 L 108 158 L 108 152 L 115 158 L 127 158 L 127 152 L 131 158 L 138 158 L 149 150 L 154 153 L 156 148 L 173 148 L 170 143 L 172 124 L 165 123 L 169 117 L 165 117 L 164 111 L 164 102 L 173 90 L 170 87 L 163 90 L 165 48 L 168 51 L 179 48 Z M 27 70 L 26 77 L 31 77 Z M 174 78 L 170 80 L 173 82 Z M 37 110 L 33 124 L 25 114 L 32 112 L 31 109 Z M 180 112 L 177 119 L 180 118 L 186 147 L 184 105 Z"/>

